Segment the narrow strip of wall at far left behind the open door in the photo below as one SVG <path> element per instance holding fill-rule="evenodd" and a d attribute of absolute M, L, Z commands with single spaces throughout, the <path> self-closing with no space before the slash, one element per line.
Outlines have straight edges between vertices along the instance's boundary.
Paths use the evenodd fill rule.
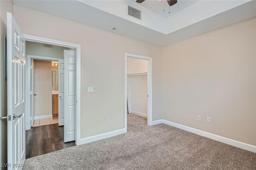
<path fill-rule="evenodd" d="M 13 13 L 11 0 L 0 0 L 0 117 L 7 115 L 7 82 L 4 80 L 4 35 L 6 12 Z M 7 120 L 0 120 L 0 163 L 7 162 Z M 4 168 L 5 169 L 5 168 Z"/>

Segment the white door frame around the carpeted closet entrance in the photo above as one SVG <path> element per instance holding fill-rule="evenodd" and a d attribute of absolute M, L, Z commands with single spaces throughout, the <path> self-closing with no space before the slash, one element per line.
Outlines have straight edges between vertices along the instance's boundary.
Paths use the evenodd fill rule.
<path fill-rule="evenodd" d="M 147 106 L 147 124 L 152 125 L 152 58 L 151 57 L 145 57 L 141 55 L 134 55 L 125 53 L 125 96 L 124 96 L 124 102 L 125 102 L 125 129 L 127 131 L 127 58 L 133 58 L 133 59 L 142 59 L 148 61 L 148 72 L 147 72 L 147 80 L 148 80 L 148 106 Z"/>

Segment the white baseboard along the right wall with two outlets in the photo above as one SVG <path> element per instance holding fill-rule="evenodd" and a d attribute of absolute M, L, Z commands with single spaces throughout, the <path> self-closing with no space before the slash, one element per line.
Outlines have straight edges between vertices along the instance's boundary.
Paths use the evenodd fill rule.
<path fill-rule="evenodd" d="M 161 121 L 161 120 L 158 120 L 158 121 Z M 154 122 L 156 122 L 156 121 L 154 121 Z M 205 132 L 205 131 L 194 129 L 192 127 L 180 125 L 178 123 L 174 123 L 174 122 L 167 121 L 167 120 L 162 120 L 162 123 L 164 123 L 166 125 L 173 126 L 173 127 L 177 127 L 179 129 L 183 129 L 185 131 L 189 131 L 189 132 L 195 133 L 195 134 L 203 136 L 203 137 L 207 137 L 207 138 L 213 139 L 215 141 L 226 143 L 226 144 L 232 145 L 234 147 L 238 147 L 238 148 L 241 148 L 241 149 L 249 150 L 251 152 L 256 152 L 256 146 L 254 146 L 254 145 L 250 145 L 250 144 L 247 144 L 247 143 L 235 141 L 233 139 L 229 139 L 229 138 L 222 137 L 222 136 L 219 136 L 219 135 L 214 135 L 212 133 L 208 133 L 208 132 Z"/>

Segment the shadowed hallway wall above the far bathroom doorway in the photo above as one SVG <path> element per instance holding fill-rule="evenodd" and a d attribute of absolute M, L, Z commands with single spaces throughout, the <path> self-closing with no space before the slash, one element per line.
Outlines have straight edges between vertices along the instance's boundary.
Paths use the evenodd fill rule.
<path fill-rule="evenodd" d="M 75 49 L 26 41 L 27 55 L 37 55 L 37 56 L 43 56 L 43 57 L 64 59 L 64 50 L 75 50 Z"/>

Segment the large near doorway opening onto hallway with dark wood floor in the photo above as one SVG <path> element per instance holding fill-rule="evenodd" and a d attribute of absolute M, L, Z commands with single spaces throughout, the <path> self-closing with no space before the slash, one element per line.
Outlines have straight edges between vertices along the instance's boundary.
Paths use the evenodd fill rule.
<path fill-rule="evenodd" d="M 76 145 L 77 69 L 75 48 L 26 42 L 26 51 L 30 158 Z"/>

